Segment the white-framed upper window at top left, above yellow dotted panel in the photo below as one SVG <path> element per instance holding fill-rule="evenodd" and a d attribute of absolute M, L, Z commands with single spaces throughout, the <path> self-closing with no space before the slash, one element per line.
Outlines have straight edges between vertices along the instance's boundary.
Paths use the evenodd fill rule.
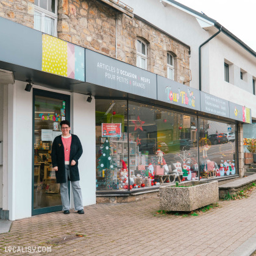
<path fill-rule="evenodd" d="M 34 29 L 57 36 L 57 0 L 35 0 Z"/>

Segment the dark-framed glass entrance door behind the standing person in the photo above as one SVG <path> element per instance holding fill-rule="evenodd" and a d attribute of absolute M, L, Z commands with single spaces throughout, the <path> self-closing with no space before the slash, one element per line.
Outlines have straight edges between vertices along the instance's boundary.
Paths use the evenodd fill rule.
<path fill-rule="evenodd" d="M 60 184 L 52 168 L 52 141 L 61 135 L 60 122 L 69 120 L 70 97 L 34 89 L 32 215 L 62 210 Z M 69 186 L 68 186 L 69 187 Z"/>

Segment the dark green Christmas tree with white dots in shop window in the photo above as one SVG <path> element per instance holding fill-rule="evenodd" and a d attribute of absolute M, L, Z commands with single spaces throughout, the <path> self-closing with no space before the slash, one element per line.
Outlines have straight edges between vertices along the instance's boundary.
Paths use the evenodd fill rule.
<path fill-rule="evenodd" d="M 108 138 L 106 138 L 102 147 L 102 155 L 98 158 L 99 165 L 97 169 L 99 169 L 99 171 L 105 171 L 106 185 L 108 188 L 113 188 L 113 170 L 116 168 L 116 165 L 110 155 L 111 150 Z"/>

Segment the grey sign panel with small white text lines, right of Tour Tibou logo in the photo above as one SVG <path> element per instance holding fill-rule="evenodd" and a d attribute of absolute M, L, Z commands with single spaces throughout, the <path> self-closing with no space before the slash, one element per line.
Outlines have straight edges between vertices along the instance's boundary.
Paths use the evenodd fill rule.
<path fill-rule="evenodd" d="M 229 118 L 229 101 L 204 93 L 203 91 L 200 93 L 202 112 Z"/>

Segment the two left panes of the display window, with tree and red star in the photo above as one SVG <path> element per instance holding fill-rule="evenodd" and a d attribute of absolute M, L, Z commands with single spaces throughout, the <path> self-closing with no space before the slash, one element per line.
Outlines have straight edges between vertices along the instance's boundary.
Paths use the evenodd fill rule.
<path fill-rule="evenodd" d="M 97 190 L 198 179 L 197 118 L 137 102 L 96 100 Z"/>

